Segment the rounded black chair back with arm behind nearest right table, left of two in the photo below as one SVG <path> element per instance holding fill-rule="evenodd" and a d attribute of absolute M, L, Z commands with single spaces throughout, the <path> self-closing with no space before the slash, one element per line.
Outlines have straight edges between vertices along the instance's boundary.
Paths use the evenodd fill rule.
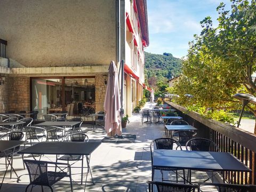
<path fill-rule="evenodd" d="M 182 150 L 181 145 L 178 141 L 171 139 L 171 138 L 158 138 L 154 139 L 150 143 L 150 154 L 151 154 L 151 164 L 153 164 L 153 149 L 156 147 L 156 149 L 170 149 L 173 150 L 173 144 L 177 145 L 175 150 L 178 148 Z"/>

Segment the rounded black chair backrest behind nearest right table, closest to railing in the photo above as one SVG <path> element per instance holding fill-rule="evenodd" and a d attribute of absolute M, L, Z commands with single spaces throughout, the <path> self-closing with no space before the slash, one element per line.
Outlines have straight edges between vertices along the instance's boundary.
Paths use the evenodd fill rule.
<path fill-rule="evenodd" d="M 205 138 L 190 139 L 186 143 L 186 149 L 195 151 L 220 151 L 219 147 L 213 141 Z"/>

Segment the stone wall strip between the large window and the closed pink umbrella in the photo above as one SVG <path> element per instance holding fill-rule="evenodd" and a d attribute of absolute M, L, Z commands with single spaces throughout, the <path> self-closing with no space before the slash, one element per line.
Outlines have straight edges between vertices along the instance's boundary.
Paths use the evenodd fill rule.
<path fill-rule="evenodd" d="M 107 89 L 105 79 L 108 78 L 102 75 L 95 76 L 95 112 L 104 110 L 103 105 Z"/>

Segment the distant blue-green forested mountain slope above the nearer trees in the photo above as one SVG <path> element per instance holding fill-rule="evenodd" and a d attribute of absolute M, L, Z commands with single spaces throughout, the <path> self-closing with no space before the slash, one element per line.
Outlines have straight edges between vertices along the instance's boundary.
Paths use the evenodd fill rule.
<path fill-rule="evenodd" d="M 145 52 L 146 78 L 156 76 L 157 79 L 178 76 L 181 73 L 182 60 L 173 57 L 171 53 L 153 54 Z"/>

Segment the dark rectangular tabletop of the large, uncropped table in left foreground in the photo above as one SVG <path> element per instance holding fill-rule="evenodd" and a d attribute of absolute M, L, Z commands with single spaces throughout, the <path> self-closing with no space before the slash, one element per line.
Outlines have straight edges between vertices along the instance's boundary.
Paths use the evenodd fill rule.
<path fill-rule="evenodd" d="M 40 142 L 19 151 L 20 154 L 90 155 L 100 142 Z"/>

